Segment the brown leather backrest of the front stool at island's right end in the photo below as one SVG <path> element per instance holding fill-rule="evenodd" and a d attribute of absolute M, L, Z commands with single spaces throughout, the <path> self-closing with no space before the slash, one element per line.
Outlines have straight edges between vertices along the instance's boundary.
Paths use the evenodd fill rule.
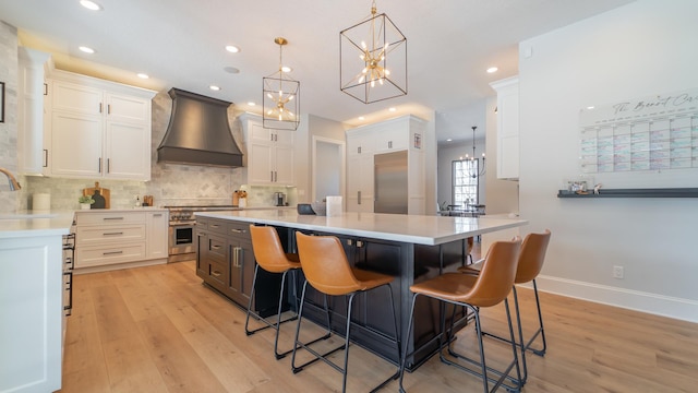
<path fill-rule="evenodd" d="M 465 302 L 491 307 L 502 302 L 512 291 L 518 264 L 521 239 L 495 241 L 485 257 L 482 271 Z"/>

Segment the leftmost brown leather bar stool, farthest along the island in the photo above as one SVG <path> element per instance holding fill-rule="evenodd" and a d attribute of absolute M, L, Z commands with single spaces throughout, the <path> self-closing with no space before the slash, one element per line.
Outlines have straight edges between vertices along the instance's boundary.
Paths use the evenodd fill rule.
<path fill-rule="evenodd" d="M 284 353 L 278 352 L 279 331 L 281 330 L 281 323 L 293 321 L 298 318 L 298 314 L 294 314 L 281 321 L 286 276 L 289 272 L 299 271 L 301 269 L 301 264 L 298 261 L 297 253 L 287 253 L 284 251 L 279 235 L 274 227 L 250 225 L 250 235 L 252 236 L 252 250 L 254 252 L 254 259 L 256 260 L 256 266 L 254 267 L 254 278 L 252 279 L 252 291 L 250 294 L 250 302 L 248 303 L 248 315 L 244 321 L 244 331 L 248 335 L 252 335 L 258 331 L 269 327 L 276 330 L 276 337 L 274 340 L 274 355 L 277 359 L 280 359 L 294 349 L 291 348 Z M 256 290 L 260 267 L 269 273 L 281 274 L 281 288 L 279 289 L 279 305 L 276 313 L 276 322 L 269 322 L 267 319 L 262 318 L 261 315 L 252 311 L 252 301 L 254 299 L 254 291 Z M 254 317 L 261 322 L 264 322 L 265 325 L 262 327 L 250 330 L 250 315 Z M 311 343 L 328 337 L 329 331 L 324 336 L 314 340 Z"/>

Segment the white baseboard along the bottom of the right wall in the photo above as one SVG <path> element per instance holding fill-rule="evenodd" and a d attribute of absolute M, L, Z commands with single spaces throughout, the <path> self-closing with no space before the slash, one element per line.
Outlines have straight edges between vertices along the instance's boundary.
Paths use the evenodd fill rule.
<path fill-rule="evenodd" d="M 545 293 L 698 322 L 698 301 L 574 279 L 539 275 L 538 289 Z M 529 284 L 525 285 L 531 287 Z"/>

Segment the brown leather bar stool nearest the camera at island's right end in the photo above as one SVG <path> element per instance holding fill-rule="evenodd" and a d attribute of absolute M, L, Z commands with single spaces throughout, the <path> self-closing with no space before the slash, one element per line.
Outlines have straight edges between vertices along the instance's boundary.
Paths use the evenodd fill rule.
<path fill-rule="evenodd" d="M 455 366 L 460 370 L 469 372 L 471 374 L 482 378 L 482 385 L 485 393 L 494 392 L 505 380 L 510 380 L 515 383 L 515 386 L 506 386 L 509 391 L 518 391 L 520 389 L 521 373 L 519 369 L 519 361 L 517 356 L 517 347 L 514 344 L 514 326 L 512 323 L 512 314 L 509 312 L 509 302 L 507 296 L 512 291 L 514 286 L 514 277 L 516 276 L 516 267 L 518 262 L 518 254 L 521 247 L 520 239 L 514 241 L 497 241 L 492 245 L 480 275 L 470 275 L 461 273 L 445 273 L 434 278 L 414 284 L 410 286 L 412 295 L 412 307 L 410 309 L 409 325 L 407 327 L 407 334 L 411 333 L 413 319 L 414 319 L 414 303 L 417 298 L 421 296 L 431 297 L 440 300 L 444 303 L 452 303 L 454 306 L 466 307 L 473 313 L 476 321 L 476 332 L 478 336 L 478 345 L 480 349 L 480 360 L 467 358 L 462 355 L 455 354 L 460 359 L 464 359 L 468 365 L 479 367 L 480 370 L 473 369 L 473 367 L 467 367 L 462 361 L 449 360 L 444 356 L 444 346 L 448 346 L 449 340 L 442 340 L 440 346 L 438 356 L 441 361 Z M 513 359 L 508 366 L 498 371 L 486 366 L 484 348 L 482 345 L 482 330 L 480 323 L 480 309 L 485 307 L 496 306 L 504 301 L 506 309 L 506 319 L 509 326 L 509 335 L 512 337 L 512 354 Z M 442 329 L 444 326 L 443 319 L 445 315 L 442 313 Z M 446 332 L 442 332 L 443 334 Z M 405 341 L 405 348 L 402 350 L 404 357 L 400 365 L 400 392 L 405 392 L 402 386 L 402 377 L 405 374 L 405 365 L 407 362 L 408 344 L 409 341 Z M 509 377 L 512 369 L 516 368 L 516 378 Z M 494 379 L 490 374 L 498 376 Z M 494 386 L 490 390 L 490 381 L 494 382 Z"/>

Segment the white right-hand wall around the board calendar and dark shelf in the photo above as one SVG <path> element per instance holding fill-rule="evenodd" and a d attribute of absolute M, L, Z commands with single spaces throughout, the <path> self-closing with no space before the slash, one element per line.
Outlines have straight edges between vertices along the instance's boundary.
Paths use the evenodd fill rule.
<path fill-rule="evenodd" d="M 696 15 L 693 0 L 638 1 L 520 44 L 524 231 L 553 233 L 542 289 L 698 322 L 698 199 L 556 198 L 580 174 L 582 107 L 698 87 Z M 595 180 L 695 188 L 698 169 Z"/>

